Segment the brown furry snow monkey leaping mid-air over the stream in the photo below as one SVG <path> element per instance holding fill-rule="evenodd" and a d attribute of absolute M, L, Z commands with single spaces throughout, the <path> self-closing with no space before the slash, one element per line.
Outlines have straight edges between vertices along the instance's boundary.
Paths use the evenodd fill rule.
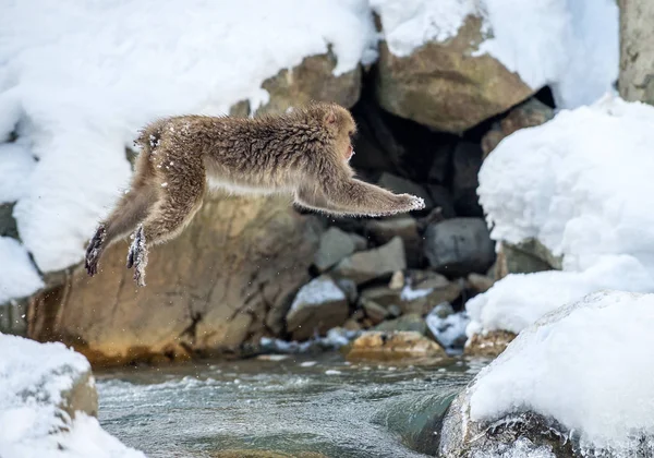
<path fill-rule="evenodd" d="M 354 178 L 349 160 L 356 125 L 337 104 L 312 103 L 280 116 L 179 116 L 141 131 L 130 190 L 97 228 L 86 250 L 89 276 L 102 251 L 132 233 L 128 268 L 145 286 L 147 246 L 178 236 L 209 186 L 235 194 L 286 193 L 330 215 L 384 216 L 424 208 Z"/>

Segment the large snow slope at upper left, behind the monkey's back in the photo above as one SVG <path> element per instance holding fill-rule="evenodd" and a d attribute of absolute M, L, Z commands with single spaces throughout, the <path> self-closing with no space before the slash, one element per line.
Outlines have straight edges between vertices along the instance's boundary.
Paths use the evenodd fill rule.
<path fill-rule="evenodd" d="M 376 58 L 365 0 L 5 4 L 0 141 L 19 135 L 10 161 L 12 182 L 22 184 L 12 195 L 0 185 L 0 201 L 17 198 L 21 239 L 39 268 L 81 261 L 128 185 L 125 147 L 145 123 L 221 114 L 240 100 L 256 108 L 268 99 L 266 79 L 329 46 L 336 75 Z"/>

